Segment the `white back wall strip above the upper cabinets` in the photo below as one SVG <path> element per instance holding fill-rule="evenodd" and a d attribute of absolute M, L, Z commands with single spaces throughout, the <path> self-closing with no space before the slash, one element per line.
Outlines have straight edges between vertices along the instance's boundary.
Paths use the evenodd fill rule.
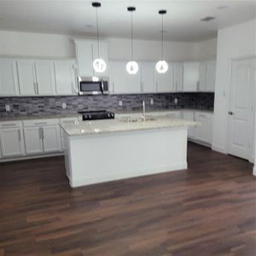
<path fill-rule="evenodd" d="M 107 40 L 111 60 L 130 58 L 130 39 L 107 38 Z M 199 50 L 201 46 L 198 47 L 198 44 L 203 45 L 203 50 Z M 216 55 L 216 49 L 216 40 L 202 43 L 165 42 L 165 56 L 169 61 L 210 59 L 209 55 Z M 160 42 L 135 40 L 134 53 L 137 60 L 158 60 Z M 69 58 L 75 56 L 75 50 L 71 37 L 67 35 L 0 31 L 0 55 Z"/>

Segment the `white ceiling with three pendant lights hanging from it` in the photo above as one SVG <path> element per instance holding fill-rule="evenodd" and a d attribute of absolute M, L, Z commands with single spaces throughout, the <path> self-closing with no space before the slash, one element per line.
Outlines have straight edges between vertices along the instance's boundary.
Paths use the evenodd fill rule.
<path fill-rule="evenodd" d="M 0 30 L 61 33 L 77 37 L 96 35 L 92 1 L 0 0 Z M 101 37 L 129 38 L 128 6 L 135 6 L 134 38 L 159 39 L 159 9 L 166 9 L 165 40 L 195 42 L 217 36 L 218 28 L 255 18 L 255 1 L 215 0 L 102 0 L 99 9 Z M 217 19 L 200 21 L 205 16 Z"/>

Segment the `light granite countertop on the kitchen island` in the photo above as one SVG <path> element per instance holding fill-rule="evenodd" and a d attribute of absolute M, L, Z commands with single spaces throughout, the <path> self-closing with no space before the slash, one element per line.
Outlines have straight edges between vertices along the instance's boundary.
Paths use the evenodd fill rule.
<path fill-rule="evenodd" d="M 161 128 L 177 128 L 198 125 L 196 122 L 183 119 L 156 117 L 143 121 L 142 119 L 108 119 L 80 122 L 78 124 L 61 124 L 68 136 L 84 136 L 120 131 L 140 131 Z"/>

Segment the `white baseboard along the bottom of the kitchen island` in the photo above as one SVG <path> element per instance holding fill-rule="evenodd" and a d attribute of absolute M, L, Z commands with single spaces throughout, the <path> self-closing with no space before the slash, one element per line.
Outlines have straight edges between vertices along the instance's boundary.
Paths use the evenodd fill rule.
<path fill-rule="evenodd" d="M 96 184 L 96 183 L 104 183 L 124 178 L 130 178 L 130 177 L 141 177 L 141 176 L 147 176 L 147 175 L 153 175 L 157 173 L 164 173 L 164 172 L 174 172 L 174 171 L 180 171 L 180 170 L 186 170 L 188 169 L 188 163 L 187 162 L 180 162 L 173 164 L 172 166 L 158 166 L 152 168 L 147 168 L 144 170 L 131 170 L 126 172 L 119 172 L 119 173 L 106 173 L 101 174 L 101 176 L 94 176 L 94 177 L 79 177 L 78 179 L 69 179 L 69 184 L 72 188 L 77 188 L 85 185 L 90 184 Z"/>

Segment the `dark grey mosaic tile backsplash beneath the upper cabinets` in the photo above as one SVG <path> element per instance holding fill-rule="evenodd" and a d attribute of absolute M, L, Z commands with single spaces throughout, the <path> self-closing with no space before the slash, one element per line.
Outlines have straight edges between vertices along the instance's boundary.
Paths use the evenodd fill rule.
<path fill-rule="evenodd" d="M 177 98 L 177 104 L 175 104 Z M 150 99 L 154 105 L 150 105 Z M 166 93 L 108 96 L 42 96 L 42 97 L 0 97 L 0 118 L 20 115 L 36 115 L 40 113 L 77 113 L 81 110 L 108 109 L 129 111 L 142 109 L 143 100 L 148 110 L 195 108 L 213 110 L 214 93 Z M 119 106 L 122 101 L 122 106 Z M 62 103 L 67 108 L 62 108 Z M 6 112 L 5 105 L 10 111 Z"/>

